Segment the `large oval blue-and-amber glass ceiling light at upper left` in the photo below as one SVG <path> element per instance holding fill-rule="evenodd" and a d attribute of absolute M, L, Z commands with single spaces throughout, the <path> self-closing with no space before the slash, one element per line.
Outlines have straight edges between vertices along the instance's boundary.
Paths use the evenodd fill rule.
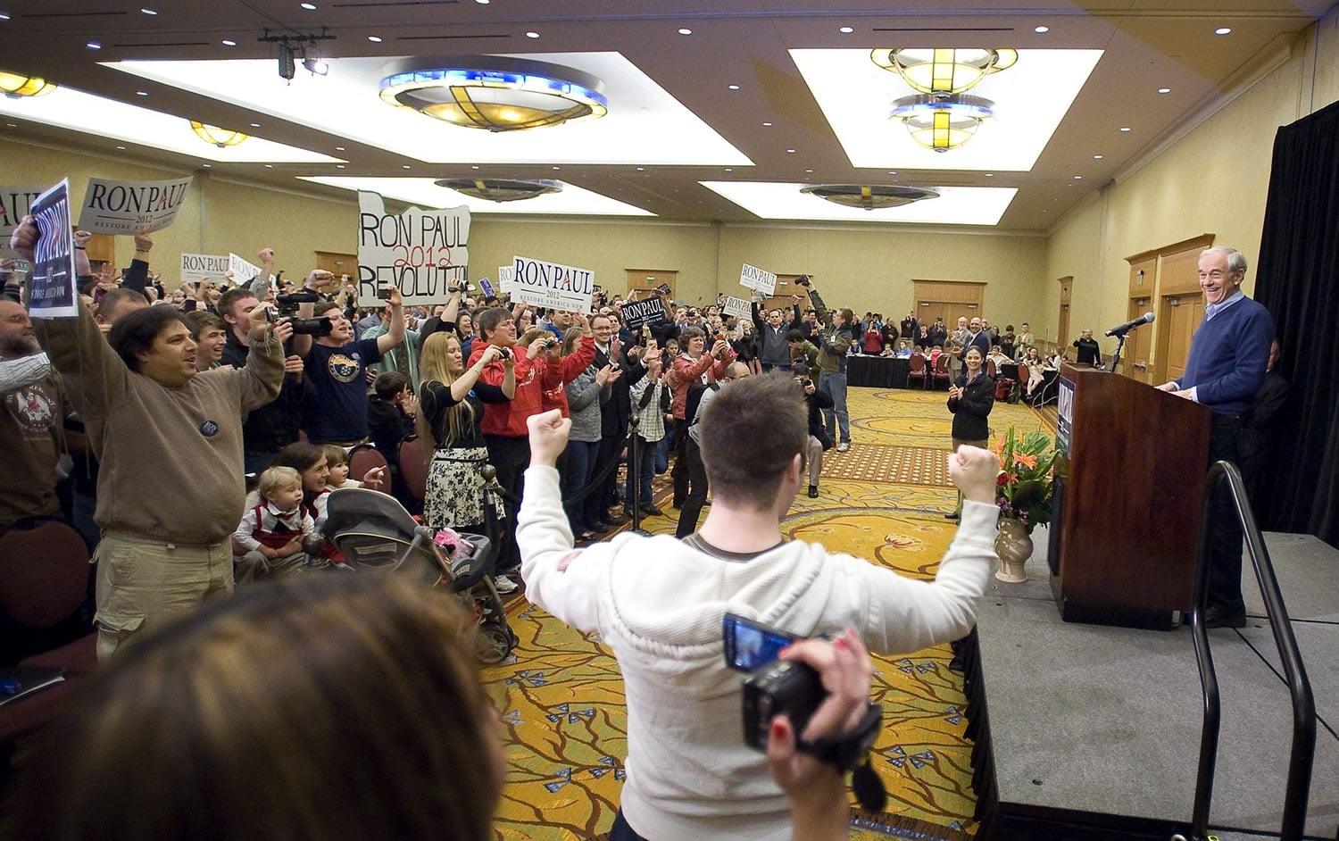
<path fill-rule="evenodd" d="M 600 118 L 604 83 L 585 72 L 530 59 L 462 55 L 410 58 L 386 68 L 382 99 L 428 117 L 489 131 L 516 131 Z"/>

